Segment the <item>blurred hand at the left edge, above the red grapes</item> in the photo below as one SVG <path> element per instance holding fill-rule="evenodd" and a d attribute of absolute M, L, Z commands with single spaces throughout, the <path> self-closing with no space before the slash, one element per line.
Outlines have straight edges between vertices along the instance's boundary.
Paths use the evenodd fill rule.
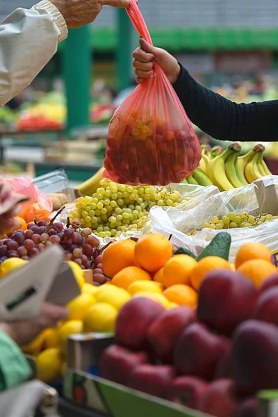
<path fill-rule="evenodd" d="M 11 193 L 13 193 L 13 191 L 10 188 L 10 184 L 3 182 L 0 186 L 0 206 L 3 202 L 6 202 Z M 20 223 L 17 222 L 17 220 L 13 220 L 13 217 L 19 213 L 20 207 L 15 206 L 13 210 L 0 215 L 0 238 L 9 231 L 15 230 L 17 227 L 20 229 Z"/>

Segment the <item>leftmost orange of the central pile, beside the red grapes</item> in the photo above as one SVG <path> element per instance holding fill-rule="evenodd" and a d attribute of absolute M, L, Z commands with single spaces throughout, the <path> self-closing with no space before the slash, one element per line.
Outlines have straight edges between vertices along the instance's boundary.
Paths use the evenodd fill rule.
<path fill-rule="evenodd" d="M 104 274 L 113 278 L 120 270 L 136 265 L 134 258 L 134 248 L 136 243 L 134 240 L 119 240 L 111 243 L 102 257 L 102 265 Z"/>

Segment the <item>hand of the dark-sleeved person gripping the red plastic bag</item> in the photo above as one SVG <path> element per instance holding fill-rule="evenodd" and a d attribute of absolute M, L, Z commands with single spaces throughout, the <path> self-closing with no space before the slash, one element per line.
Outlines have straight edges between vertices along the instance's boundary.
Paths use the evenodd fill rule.
<path fill-rule="evenodd" d="M 133 58 L 133 68 L 138 84 L 143 83 L 152 74 L 154 60 L 161 66 L 172 84 L 177 81 L 181 72 L 181 67 L 174 56 L 164 49 L 152 47 L 142 38 L 140 38 L 140 48 L 133 52 Z"/>

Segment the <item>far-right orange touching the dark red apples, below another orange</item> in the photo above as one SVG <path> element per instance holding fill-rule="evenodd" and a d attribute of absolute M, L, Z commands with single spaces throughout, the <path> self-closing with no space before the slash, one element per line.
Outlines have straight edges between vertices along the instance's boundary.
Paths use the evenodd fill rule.
<path fill-rule="evenodd" d="M 238 272 L 251 279 L 254 286 L 259 288 L 263 281 L 274 272 L 277 272 L 275 265 L 264 259 L 253 259 L 240 265 Z"/>

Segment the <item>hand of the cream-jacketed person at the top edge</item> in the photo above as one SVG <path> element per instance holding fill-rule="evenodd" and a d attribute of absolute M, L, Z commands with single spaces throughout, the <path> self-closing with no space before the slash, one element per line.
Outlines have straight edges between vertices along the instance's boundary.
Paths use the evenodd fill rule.
<path fill-rule="evenodd" d="M 68 28 L 94 22 L 102 6 L 129 8 L 129 0 L 50 0 L 63 15 Z"/>

